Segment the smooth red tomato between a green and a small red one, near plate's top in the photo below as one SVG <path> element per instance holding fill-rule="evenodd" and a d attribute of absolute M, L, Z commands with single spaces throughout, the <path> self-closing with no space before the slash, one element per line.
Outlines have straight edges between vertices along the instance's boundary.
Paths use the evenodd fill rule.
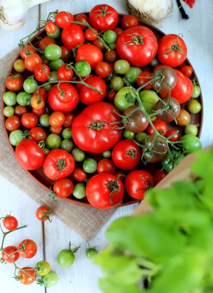
<path fill-rule="evenodd" d="M 70 24 L 62 31 L 62 42 L 68 49 L 75 49 L 85 42 L 85 34 L 78 24 Z"/>

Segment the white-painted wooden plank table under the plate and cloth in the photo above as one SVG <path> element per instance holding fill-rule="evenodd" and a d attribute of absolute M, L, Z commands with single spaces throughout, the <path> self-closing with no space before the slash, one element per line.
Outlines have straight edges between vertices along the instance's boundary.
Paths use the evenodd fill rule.
<path fill-rule="evenodd" d="M 103 1 L 52 0 L 32 8 L 28 13 L 25 25 L 19 31 L 0 31 L 0 57 L 15 48 L 19 40 L 35 29 L 39 19 L 46 19 L 50 11 L 59 9 L 76 14 L 90 11 L 98 3 L 101 4 Z M 106 3 L 116 8 L 120 13 L 127 12 L 125 0 L 107 0 Z M 181 15 L 177 11 L 176 1 L 174 1 L 174 9 L 172 16 L 164 21 L 161 29 L 167 34 L 182 33 L 184 35 L 188 47 L 188 58 L 196 71 L 203 93 L 204 124 L 201 141 L 203 146 L 208 146 L 213 143 L 213 109 L 211 107 L 213 105 L 213 0 L 197 0 L 192 10 L 186 7 L 186 12 L 191 16 L 188 21 L 181 19 Z M 34 258 L 19 259 L 17 264 L 20 267 L 33 267 L 37 261 L 45 259 L 51 264 L 52 269 L 59 274 L 59 283 L 51 289 L 45 289 L 35 283 L 26 287 L 14 279 L 10 279 L 13 276 L 13 265 L 0 264 L 0 292 L 100 293 L 97 281 L 101 272 L 86 258 L 85 240 L 54 216 L 51 224 L 47 221 L 43 226 L 35 215 L 38 205 L 3 177 L 0 178 L 0 188 L 0 217 L 13 210 L 13 215 L 18 218 L 19 224 L 28 225 L 27 228 L 9 235 L 6 238 L 5 246 L 17 245 L 26 237 L 33 239 L 38 245 L 38 252 Z M 115 218 L 129 215 L 133 209 L 135 209 L 135 205 L 118 208 L 93 237 L 90 244 L 98 245 L 98 250 L 103 249 L 107 243 L 104 236 L 107 227 Z M 82 249 L 76 254 L 74 265 L 65 269 L 58 265 L 57 254 L 68 246 L 69 241 L 76 245 L 81 243 Z"/>

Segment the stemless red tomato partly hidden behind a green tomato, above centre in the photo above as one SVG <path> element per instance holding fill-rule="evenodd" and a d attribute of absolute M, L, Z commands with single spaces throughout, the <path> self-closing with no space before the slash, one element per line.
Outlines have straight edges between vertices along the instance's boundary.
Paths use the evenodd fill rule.
<path fill-rule="evenodd" d="M 83 44 L 77 50 L 75 62 L 86 61 L 92 70 L 95 69 L 97 63 L 103 60 L 102 51 L 94 45 Z"/>

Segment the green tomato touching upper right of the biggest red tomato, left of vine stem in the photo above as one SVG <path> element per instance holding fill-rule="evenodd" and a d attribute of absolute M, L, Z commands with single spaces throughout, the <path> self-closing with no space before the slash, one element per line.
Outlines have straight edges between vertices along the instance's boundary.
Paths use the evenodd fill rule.
<path fill-rule="evenodd" d="M 114 106 L 120 112 L 124 112 L 129 106 L 135 105 L 136 97 L 134 93 L 129 90 L 128 86 L 120 89 L 114 99 Z"/>

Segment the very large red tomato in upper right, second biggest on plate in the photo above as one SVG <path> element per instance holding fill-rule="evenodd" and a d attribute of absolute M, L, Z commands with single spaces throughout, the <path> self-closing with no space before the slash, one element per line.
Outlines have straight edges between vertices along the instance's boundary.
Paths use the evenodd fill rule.
<path fill-rule="evenodd" d="M 149 64 L 157 53 L 157 40 L 152 31 L 145 26 L 126 29 L 117 39 L 116 49 L 121 59 L 131 66 L 141 67 Z"/>

